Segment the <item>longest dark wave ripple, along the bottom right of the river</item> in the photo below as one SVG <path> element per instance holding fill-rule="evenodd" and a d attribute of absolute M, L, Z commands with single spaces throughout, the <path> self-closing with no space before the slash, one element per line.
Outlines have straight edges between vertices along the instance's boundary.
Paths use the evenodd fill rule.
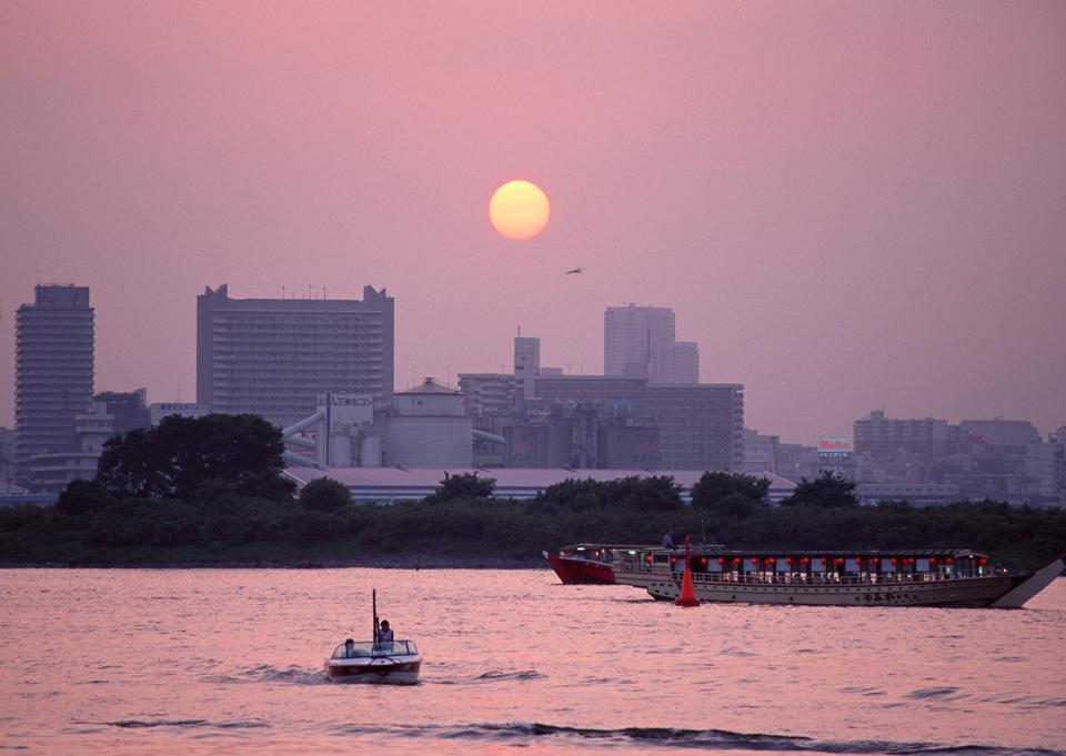
<path fill-rule="evenodd" d="M 352 732 L 351 727 L 346 728 Z M 356 728 L 362 729 L 362 728 Z M 811 737 L 734 733 L 726 729 L 676 729 L 672 727 L 624 727 L 597 729 L 564 727 L 542 723 L 469 724 L 456 726 L 422 725 L 400 728 L 373 727 L 381 734 L 391 729 L 402 737 L 436 737 L 447 740 L 499 739 L 513 745 L 531 745 L 541 738 L 557 739 L 564 745 L 593 748 L 701 748 L 734 752 L 795 752 L 804 754 L 888 754 L 892 756 L 1066 756 L 1066 752 L 1047 748 L 1004 748 L 983 745 L 937 743 L 897 743 L 892 740 L 822 740 Z M 530 743 L 522 743 L 522 742 Z M 569 742 L 569 743 L 566 743 Z M 642 745 L 643 744 L 643 745 Z M 546 745 L 546 744 L 545 744 Z"/>

